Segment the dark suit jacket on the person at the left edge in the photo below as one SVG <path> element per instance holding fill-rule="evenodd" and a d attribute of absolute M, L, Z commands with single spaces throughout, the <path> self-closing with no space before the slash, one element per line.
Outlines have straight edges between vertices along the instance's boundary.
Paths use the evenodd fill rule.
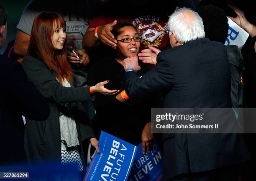
<path fill-rule="evenodd" d="M 28 82 L 20 63 L 0 55 L 0 165 L 26 160 L 21 115 L 46 120 L 49 113 L 47 101 Z"/>

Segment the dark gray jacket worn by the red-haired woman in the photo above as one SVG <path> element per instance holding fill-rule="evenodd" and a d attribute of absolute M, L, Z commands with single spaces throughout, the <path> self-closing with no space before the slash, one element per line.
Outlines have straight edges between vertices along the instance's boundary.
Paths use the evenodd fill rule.
<path fill-rule="evenodd" d="M 44 62 L 28 56 L 22 62 L 28 80 L 35 84 L 50 105 L 50 115 L 46 121 L 26 119 L 24 145 L 28 162 L 58 161 L 61 159 L 59 105 L 72 103 L 71 112 L 76 120 L 78 139 L 82 141 L 95 137 L 87 124 L 86 115 L 80 101 L 91 101 L 89 87 L 63 87 Z M 85 165 L 85 164 L 84 164 Z"/>

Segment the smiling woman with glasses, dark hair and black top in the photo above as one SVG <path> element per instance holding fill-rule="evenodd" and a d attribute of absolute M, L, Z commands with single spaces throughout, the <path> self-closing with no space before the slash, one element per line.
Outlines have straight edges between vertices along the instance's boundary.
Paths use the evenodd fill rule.
<path fill-rule="evenodd" d="M 150 122 L 151 107 L 157 107 L 155 97 L 127 99 L 123 92 L 123 59 L 138 55 L 141 37 L 136 28 L 131 23 L 121 22 L 113 27 L 111 31 L 117 37 L 117 47 L 113 57 L 105 57 L 102 61 L 95 64 L 91 74 L 88 76 L 88 83 L 95 84 L 101 80 L 109 79 L 106 85 L 108 89 L 118 89 L 119 93 L 105 96 L 95 93 L 94 106 L 96 115 L 94 119 L 94 129 L 99 135 L 100 130 L 115 135 L 129 143 L 138 145 L 141 143 L 142 131 L 144 126 Z M 145 64 L 140 64 L 141 70 L 138 71 L 143 76 L 149 68 Z M 118 101 L 122 97 L 124 102 Z M 153 139 L 149 133 L 148 139 Z"/>

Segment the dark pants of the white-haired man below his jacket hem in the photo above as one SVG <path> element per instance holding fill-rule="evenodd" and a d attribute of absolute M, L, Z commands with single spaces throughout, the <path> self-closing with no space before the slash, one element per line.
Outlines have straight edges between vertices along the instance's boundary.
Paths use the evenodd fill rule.
<path fill-rule="evenodd" d="M 228 166 L 210 171 L 175 176 L 170 181 L 238 181 L 238 166 Z"/>

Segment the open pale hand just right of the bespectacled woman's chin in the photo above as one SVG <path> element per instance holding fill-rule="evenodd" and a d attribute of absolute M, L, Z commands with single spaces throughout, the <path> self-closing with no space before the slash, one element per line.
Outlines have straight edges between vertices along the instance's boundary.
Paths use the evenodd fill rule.
<path fill-rule="evenodd" d="M 140 54 L 138 54 L 139 59 L 142 60 L 143 63 L 145 64 L 156 64 L 156 56 L 159 54 L 161 50 L 148 45 L 148 49 L 144 49 L 141 51 Z"/>

